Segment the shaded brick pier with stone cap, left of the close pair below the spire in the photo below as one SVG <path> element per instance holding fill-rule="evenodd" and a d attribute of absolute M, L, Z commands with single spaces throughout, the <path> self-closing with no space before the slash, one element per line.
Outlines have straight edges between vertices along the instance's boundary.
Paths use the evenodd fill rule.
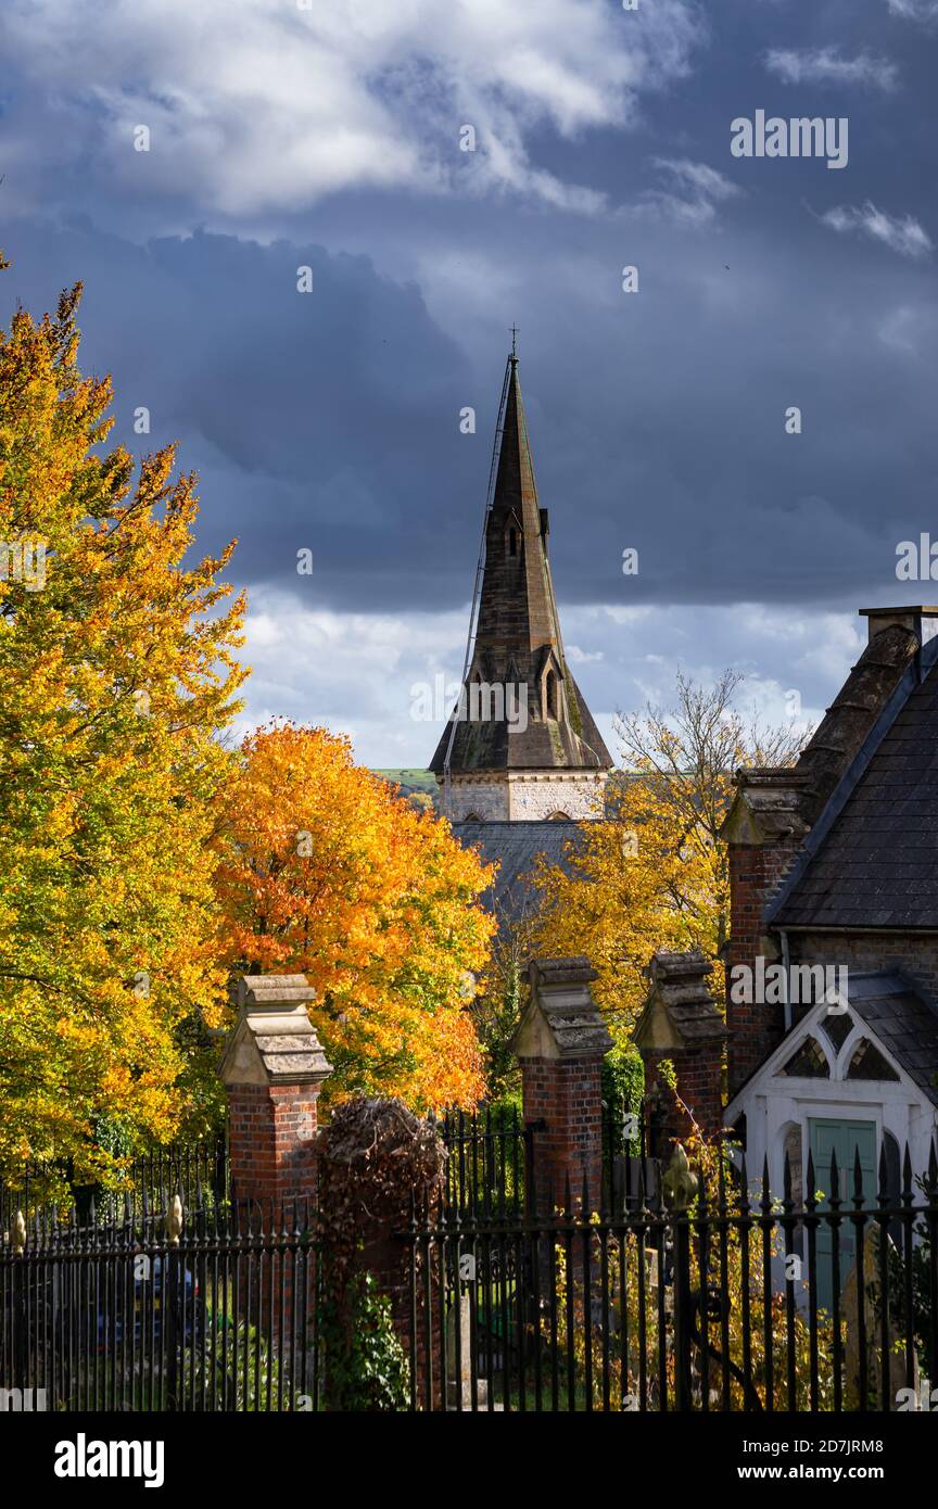
<path fill-rule="evenodd" d="M 599 1204 L 603 1156 L 602 1065 L 612 1047 L 590 984 L 596 970 L 584 957 L 531 963 L 531 999 L 514 1037 L 522 1071 L 525 1121 L 535 1138 L 535 1189 L 541 1210 L 573 1200 L 587 1180 Z"/>

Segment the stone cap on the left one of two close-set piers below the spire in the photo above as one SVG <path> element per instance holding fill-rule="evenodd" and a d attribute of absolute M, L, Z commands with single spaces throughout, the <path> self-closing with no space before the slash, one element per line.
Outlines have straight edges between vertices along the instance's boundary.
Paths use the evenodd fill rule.
<path fill-rule="evenodd" d="M 531 1000 L 514 1035 L 519 1058 L 593 1058 L 608 1053 L 612 1038 L 590 982 L 588 958 L 535 958 L 529 966 Z"/>

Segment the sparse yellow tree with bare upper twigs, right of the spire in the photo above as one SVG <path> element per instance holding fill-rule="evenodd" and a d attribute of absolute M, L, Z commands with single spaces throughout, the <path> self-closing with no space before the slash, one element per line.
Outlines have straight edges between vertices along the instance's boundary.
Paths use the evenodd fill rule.
<path fill-rule="evenodd" d="M 624 1032 L 645 994 L 642 970 L 659 948 L 716 958 L 728 931 L 730 878 L 719 839 L 740 765 L 792 764 L 807 732 L 766 727 L 736 706 L 727 670 L 704 687 L 679 673 L 671 708 L 617 718 L 623 768 L 611 815 L 581 824 L 562 866 L 541 862 L 541 952 L 585 954 L 596 994 Z"/>

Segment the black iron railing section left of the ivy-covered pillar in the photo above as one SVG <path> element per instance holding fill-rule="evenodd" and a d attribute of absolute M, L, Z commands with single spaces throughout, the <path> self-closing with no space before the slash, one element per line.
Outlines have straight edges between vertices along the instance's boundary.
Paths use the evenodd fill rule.
<path fill-rule="evenodd" d="M 5 1408 L 317 1409 L 306 1203 L 75 1209 L 0 1230 Z"/>

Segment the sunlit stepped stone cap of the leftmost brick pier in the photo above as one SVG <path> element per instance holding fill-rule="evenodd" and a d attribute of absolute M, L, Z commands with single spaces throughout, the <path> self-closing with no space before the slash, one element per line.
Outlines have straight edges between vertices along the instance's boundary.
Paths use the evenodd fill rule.
<path fill-rule="evenodd" d="M 332 1064 L 309 1020 L 305 975 L 241 975 L 238 1019 L 222 1058 L 226 1085 L 318 1085 Z"/>

